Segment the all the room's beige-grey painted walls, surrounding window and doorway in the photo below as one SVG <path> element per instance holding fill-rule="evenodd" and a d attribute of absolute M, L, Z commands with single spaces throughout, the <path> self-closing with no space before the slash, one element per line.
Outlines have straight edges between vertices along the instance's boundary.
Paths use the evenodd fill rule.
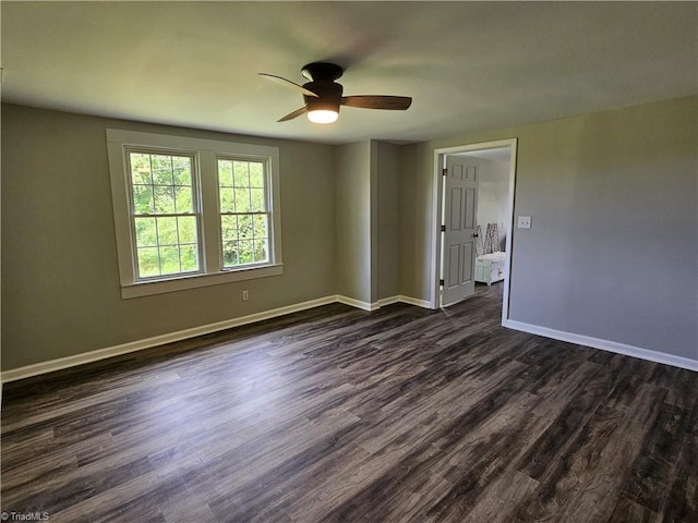
<path fill-rule="evenodd" d="M 2 111 L 3 369 L 334 294 L 430 300 L 434 148 L 510 137 L 533 217 L 510 319 L 698 358 L 696 98 L 406 146 Z M 122 300 L 107 127 L 278 146 L 284 275 Z"/>

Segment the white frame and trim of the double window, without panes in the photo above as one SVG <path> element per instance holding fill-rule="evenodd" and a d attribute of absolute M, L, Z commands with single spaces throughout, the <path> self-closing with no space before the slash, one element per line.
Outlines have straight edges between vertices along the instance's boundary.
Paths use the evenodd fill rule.
<path fill-rule="evenodd" d="M 135 241 L 131 227 L 129 148 L 158 149 L 164 154 L 193 154 L 198 174 L 198 211 L 201 212 L 201 271 L 167 275 L 139 280 L 136 277 Z M 160 294 L 233 281 L 279 276 L 284 273 L 281 258 L 281 205 L 279 182 L 279 149 L 256 144 L 240 144 L 205 138 L 192 138 L 118 129 L 107 130 L 107 153 L 111 181 L 111 198 L 117 235 L 119 279 L 123 299 Z M 220 208 L 218 199 L 218 158 L 246 157 L 263 159 L 267 167 L 266 194 L 269 220 L 269 263 L 222 268 Z"/>

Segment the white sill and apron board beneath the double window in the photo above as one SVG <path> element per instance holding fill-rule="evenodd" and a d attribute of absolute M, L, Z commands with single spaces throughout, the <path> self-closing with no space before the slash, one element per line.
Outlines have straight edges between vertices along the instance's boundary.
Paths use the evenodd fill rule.
<path fill-rule="evenodd" d="M 184 291 L 200 287 L 219 285 L 233 281 L 253 280 L 284 273 L 284 265 L 267 265 L 264 267 L 250 267 L 249 269 L 226 270 L 209 275 L 192 275 L 172 278 L 170 280 L 141 281 L 121 285 L 121 297 L 149 296 L 166 292 Z"/>

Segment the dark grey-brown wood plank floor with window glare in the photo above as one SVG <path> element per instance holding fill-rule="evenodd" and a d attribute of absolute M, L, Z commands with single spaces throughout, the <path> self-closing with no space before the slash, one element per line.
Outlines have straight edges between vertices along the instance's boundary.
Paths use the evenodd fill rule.
<path fill-rule="evenodd" d="M 7 384 L 5 512 L 698 522 L 698 374 L 448 311 L 328 305 Z"/>

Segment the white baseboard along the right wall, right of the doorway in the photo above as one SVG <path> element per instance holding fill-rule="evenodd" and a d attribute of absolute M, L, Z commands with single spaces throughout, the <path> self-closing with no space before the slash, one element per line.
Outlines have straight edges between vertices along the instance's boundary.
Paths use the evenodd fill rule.
<path fill-rule="evenodd" d="M 539 327 L 537 325 L 515 321 L 513 319 L 507 319 L 503 321 L 502 325 L 509 329 L 520 330 L 531 335 L 543 336 L 554 340 L 567 341 L 578 345 L 591 346 L 592 349 L 601 349 L 602 351 L 623 354 L 624 356 L 639 357 L 640 360 L 663 363 L 664 365 L 698 372 L 698 360 L 690 360 L 689 357 L 675 356 L 673 354 L 665 354 L 663 352 L 651 351 L 649 349 L 626 345 L 625 343 L 618 343 L 617 341 L 602 340 L 590 336 L 565 332 L 564 330 L 549 329 L 547 327 Z"/>

